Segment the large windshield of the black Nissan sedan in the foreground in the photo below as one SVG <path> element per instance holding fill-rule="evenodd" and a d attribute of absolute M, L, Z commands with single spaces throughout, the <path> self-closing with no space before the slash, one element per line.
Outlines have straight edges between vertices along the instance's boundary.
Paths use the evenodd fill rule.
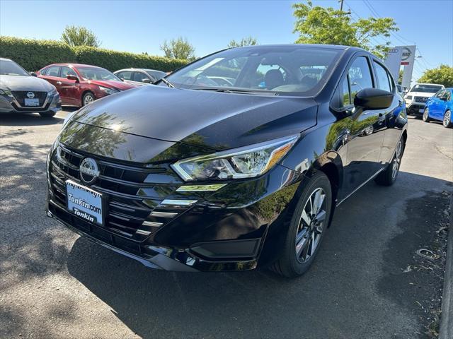
<path fill-rule="evenodd" d="M 326 82 L 340 52 L 297 45 L 227 49 L 166 79 L 180 88 L 308 96 Z"/>

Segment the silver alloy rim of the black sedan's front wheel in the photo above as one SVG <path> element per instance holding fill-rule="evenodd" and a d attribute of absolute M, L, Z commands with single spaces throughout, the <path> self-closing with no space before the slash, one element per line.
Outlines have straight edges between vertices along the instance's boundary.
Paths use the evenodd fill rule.
<path fill-rule="evenodd" d="M 326 223 L 326 192 L 315 189 L 305 203 L 296 234 L 297 261 L 304 263 L 314 255 Z"/>

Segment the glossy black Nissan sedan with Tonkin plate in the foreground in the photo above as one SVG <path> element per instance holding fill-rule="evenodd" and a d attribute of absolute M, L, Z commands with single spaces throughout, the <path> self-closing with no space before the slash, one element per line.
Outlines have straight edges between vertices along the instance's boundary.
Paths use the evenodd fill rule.
<path fill-rule="evenodd" d="M 152 268 L 294 277 L 338 204 L 395 182 L 406 138 L 394 79 L 362 49 L 226 49 L 67 119 L 47 215 Z"/>

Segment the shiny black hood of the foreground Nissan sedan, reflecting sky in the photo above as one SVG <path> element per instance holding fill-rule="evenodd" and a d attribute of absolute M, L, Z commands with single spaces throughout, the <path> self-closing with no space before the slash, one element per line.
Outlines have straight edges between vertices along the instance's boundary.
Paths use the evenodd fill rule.
<path fill-rule="evenodd" d="M 298 134 L 316 125 L 313 98 L 142 86 L 81 109 L 73 121 L 213 150 Z"/>

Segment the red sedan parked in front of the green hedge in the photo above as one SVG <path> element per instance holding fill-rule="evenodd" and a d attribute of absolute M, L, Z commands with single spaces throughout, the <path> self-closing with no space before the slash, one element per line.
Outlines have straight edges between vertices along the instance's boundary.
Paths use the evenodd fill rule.
<path fill-rule="evenodd" d="M 100 97 L 137 87 L 106 69 L 84 64 L 52 64 L 40 69 L 38 77 L 55 85 L 64 106 L 85 106 Z"/>

